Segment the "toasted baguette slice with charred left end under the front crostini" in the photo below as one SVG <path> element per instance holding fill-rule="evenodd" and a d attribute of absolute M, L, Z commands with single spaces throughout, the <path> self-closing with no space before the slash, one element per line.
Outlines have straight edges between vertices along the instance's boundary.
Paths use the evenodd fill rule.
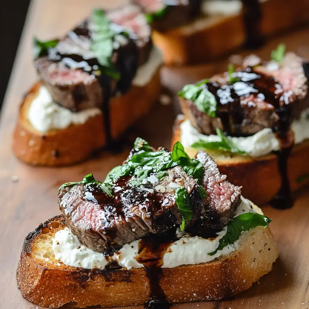
<path fill-rule="evenodd" d="M 261 213 L 257 206 L 253 207 Z M 55 260 L 51 239 L 64 227 L 63 216 L 57 216 L 26 237 L 17 269 L 17 284 L 24 298 L 52 308 L 64 304 L 116 307 L 147 302 L 150 287 L 143 268 L 83 269 Z M 203 264 L 163 268 L 160 285 L 170 303 L 218 300 L 248 289 L 269 273 L 276 258 L 271 231 L 258 226 L 244 232 L 238 248 L 229 255 Z"/>

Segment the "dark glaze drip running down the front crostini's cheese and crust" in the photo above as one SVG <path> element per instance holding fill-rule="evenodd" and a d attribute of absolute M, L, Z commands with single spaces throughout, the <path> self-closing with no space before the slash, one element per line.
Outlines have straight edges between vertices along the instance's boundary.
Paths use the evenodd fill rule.
<path fill-rule="evenodd" d="M 163 255 L 167 248 L 177 240 L 176 229 L 143 237 L 138 244 L 138 262 L 145 266 L 149 279 L 150 295 L 145 309 L 168 309 L 170 303 L 160 286 L 163 276 Z"/>

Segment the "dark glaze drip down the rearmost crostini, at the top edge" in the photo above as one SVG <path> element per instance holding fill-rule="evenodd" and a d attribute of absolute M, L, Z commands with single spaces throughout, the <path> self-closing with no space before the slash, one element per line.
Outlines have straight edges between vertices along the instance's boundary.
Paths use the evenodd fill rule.
<path fill-rule="evenodd" d="M 246 32 L 245 46 L 250 49 L 263 45 L 261 34 L 262 8 L 259 0 L 242 0 L 243 24 Z"/>

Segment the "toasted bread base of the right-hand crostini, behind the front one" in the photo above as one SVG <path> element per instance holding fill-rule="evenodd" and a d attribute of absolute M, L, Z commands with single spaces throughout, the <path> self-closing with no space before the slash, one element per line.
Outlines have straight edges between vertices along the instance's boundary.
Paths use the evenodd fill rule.
<path fill-rule="evenodd" d="M 180 123 L 184 118 L 176 119 L 173 127 L 171 145 L 180 140 Z M 186 153 L 194 157 L 198 150 L 186 148 Z M 221 152 L 222 153 L 222 152 Z M 256 205 L 267 204 L 278 192 L 281 177 L 277 167 L 277 156 L 273 153 L 257 158 L 233 155 L 222 160 L 209 152 L 210 156 L 218 164 L 222 174 L 237 186 L 242 186 L 242 195 L 253 201 Z M 288 173 L 292 192 L 309 184 L 309 179 L 297 182 L 297 179 L 309 173 L 309 140 L 306 140 L 292 149 L 288 159 Z"/>

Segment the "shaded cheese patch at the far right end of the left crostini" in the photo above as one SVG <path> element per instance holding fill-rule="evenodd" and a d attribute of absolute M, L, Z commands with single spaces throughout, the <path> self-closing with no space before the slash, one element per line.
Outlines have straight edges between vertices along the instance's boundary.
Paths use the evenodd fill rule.
<path fill-rule="evenodd" d="M 147 62 L 138 67 L 138 70 L 132 81 L 133 86 L 142 87 L 148 84 L 162 63 L 163 59 L 159 49 L 153 47 Z"/>

